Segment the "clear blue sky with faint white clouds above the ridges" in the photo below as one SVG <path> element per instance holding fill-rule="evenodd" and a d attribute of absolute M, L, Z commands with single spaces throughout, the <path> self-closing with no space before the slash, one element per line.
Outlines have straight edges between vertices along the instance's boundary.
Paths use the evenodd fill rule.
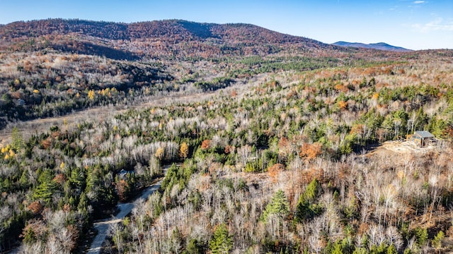
<path fill-rule="evenodd" d="M 44 18 L 251 23 L 325 43 L 453 49 L 452 0 L 0 0 L 0 24 Z"/>

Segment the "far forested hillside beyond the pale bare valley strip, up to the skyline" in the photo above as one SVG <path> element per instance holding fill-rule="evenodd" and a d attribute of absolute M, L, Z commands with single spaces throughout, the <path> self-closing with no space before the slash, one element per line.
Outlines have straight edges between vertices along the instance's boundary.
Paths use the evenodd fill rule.
<path fill-rule="evenodd" d="M 400 57 L 335 47 L 255 25 L 184 20 L 16 22 L 0 27 L 0 51 L 0 128 L 16 120 L 193 91 L 188 83 L 199 90 L 217 90 L 257 73 Z M 210 84 L 215 78 L 226 82 Z"/>

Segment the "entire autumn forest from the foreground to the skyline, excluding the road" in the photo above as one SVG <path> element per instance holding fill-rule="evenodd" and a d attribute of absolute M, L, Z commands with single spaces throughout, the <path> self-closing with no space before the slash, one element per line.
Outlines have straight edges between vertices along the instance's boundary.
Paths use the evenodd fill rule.
<path fill-rule="evenodd" d="M 362 51 L 181 20 L 0 30 L 1 251 L 84 252 L 93 222 L 164 166 L 105 253 L 452 251 L 451 50 Z M 154 51 L 147 38 L 174 44 Z M 64 40 L 131 58 L 52 46 Z M 101 105 L 122 110 L 55 117 Z M 40 117 L 55 117 L 43 132 L 16 123 Z M 437 140 L 401 141 L 420 130 Z"/>

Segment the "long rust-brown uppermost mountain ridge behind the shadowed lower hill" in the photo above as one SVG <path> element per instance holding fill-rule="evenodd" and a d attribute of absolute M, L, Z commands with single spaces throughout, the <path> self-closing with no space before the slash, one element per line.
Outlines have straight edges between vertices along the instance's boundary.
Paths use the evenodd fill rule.
<path fill-rule="evenodd" d="M 66 20 L 61 18 L 32 21 L 16 21 L 0 26 L 0 37 L 13 39 L 18 37 L 39 37 L 43 35 L 79 33 L 110 40 L 145 39 L 178 33 L 180 39 L 193 40 L 226 37 L 233 39 L 231 30 L 248 31 L 248 35 L 261 35 L 258 42 L 263 42 L 263 35 L 272 34 L 274 40 L 270 42 L 316 42 L 328 46 L 323 42 L 306 37 L 287 35 L 281 32 L 268 30 L 258 25 L 246 23 L 197 23 L 188 20 L 153 20 L 137 23 L 115 23 L 91 20 Z M 238 38 L 235 38 L 236 40 Z"/>

